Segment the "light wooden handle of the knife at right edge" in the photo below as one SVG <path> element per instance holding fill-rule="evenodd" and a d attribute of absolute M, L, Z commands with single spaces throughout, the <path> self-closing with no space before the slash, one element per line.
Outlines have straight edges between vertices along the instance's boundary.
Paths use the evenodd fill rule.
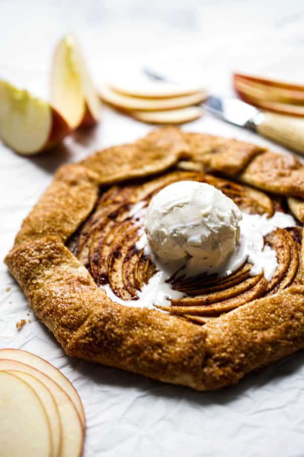
<path fill-rule="evenodd" d="M 303 118 L 265 112 L 255 127 L 263 137 L 304 154 Z"/>

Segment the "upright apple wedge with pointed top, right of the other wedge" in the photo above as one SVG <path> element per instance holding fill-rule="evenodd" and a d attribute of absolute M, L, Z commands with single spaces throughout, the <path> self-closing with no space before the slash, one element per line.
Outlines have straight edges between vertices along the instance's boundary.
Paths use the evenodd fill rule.
<path fill-rule="evenodd" d="M 101 104 L 73 35 L 58 43 L 52 61 L 51 101 L 71 128 L 99 121 Z"/>

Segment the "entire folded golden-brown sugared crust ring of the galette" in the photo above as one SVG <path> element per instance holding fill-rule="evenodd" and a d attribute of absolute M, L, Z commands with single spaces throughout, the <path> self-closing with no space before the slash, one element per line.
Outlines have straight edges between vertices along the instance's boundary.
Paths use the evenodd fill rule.
<path fill-rule="evenodd" d="M 214 137 L 204 137 L 200 150 L 209 148 L 212 154 Z M 238 179 L 256 187 L 304 197 L 304 169 L 293 156 L 282 158 L 236 140 L 217 141 L 223 149 L 216 161 L 200 159 L 204 167 L 217 164 L 216 171 L 229 175 L 235 170 Z M 225 154 L 220 155 L 225 141 L 234 164 L 228 168 Z M 244 153 L 239 154 L 242 145 Z M 24 220 L 6 263 L 37 317 L 67 354 L 198 390 L 215 389 L 304 347 L 302 274 L 297 285 L 200 327 L 160 311 L 112 302 L 64 245 L 93 209 L 100 184 L 160 173 L 179 159 L 199 162 L 191 142 L 170 127 L 61 167 Z M 303 252 L 300 265 L 302 272 Z"/>

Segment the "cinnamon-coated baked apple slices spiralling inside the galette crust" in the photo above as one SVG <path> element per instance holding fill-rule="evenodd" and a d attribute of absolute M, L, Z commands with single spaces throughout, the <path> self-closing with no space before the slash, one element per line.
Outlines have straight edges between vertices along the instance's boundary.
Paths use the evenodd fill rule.
<path fill-rule="evenodd" d="M 144 184 L 115 185 L 105 191 L 93 213 L 68 247 L 88 268 L 95 282 L 108 284 L 116 297 L 136 301 L 143 286 L 157 272 L 153 259 L 139 247 L 139 240 L 150 199 L 164 186 L 180 180 L 197 180 L 214 185 L 235 201 L 245 212 L 265 214 L 282 211 L 280 198 L 233 181 L 202 172 L 178 171 Z M 299 269 L 301 229 L 278 228 L 264 237 L 264 243 L 276 251 L 277 268 L 270 281 L 263 272 L 251 276 L 252 265 L 245 262 L 225 277 L 199 275 L 171 278 L 173 290 L 184 294 L 171 300 L 171 306 L 155 305 L 170 314 L 204 323 L 222 313 L 287 287 Z M 135 304 L 136 306 L 136 304 Z"/>

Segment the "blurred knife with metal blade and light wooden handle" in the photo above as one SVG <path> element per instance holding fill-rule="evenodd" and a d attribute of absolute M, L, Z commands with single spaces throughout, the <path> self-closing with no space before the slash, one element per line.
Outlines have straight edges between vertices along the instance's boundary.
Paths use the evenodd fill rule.
<path fill-rule="evenodd" d="M 166 81 L 149 69 L 143 69 L 151 79 Z M 293 151 L 304 154 L 304 119 L 260 111 L 234 97 L 210 95 L 203 103 L 208 113 L 230 124 L 244 127 L 275 141 Z"/>

